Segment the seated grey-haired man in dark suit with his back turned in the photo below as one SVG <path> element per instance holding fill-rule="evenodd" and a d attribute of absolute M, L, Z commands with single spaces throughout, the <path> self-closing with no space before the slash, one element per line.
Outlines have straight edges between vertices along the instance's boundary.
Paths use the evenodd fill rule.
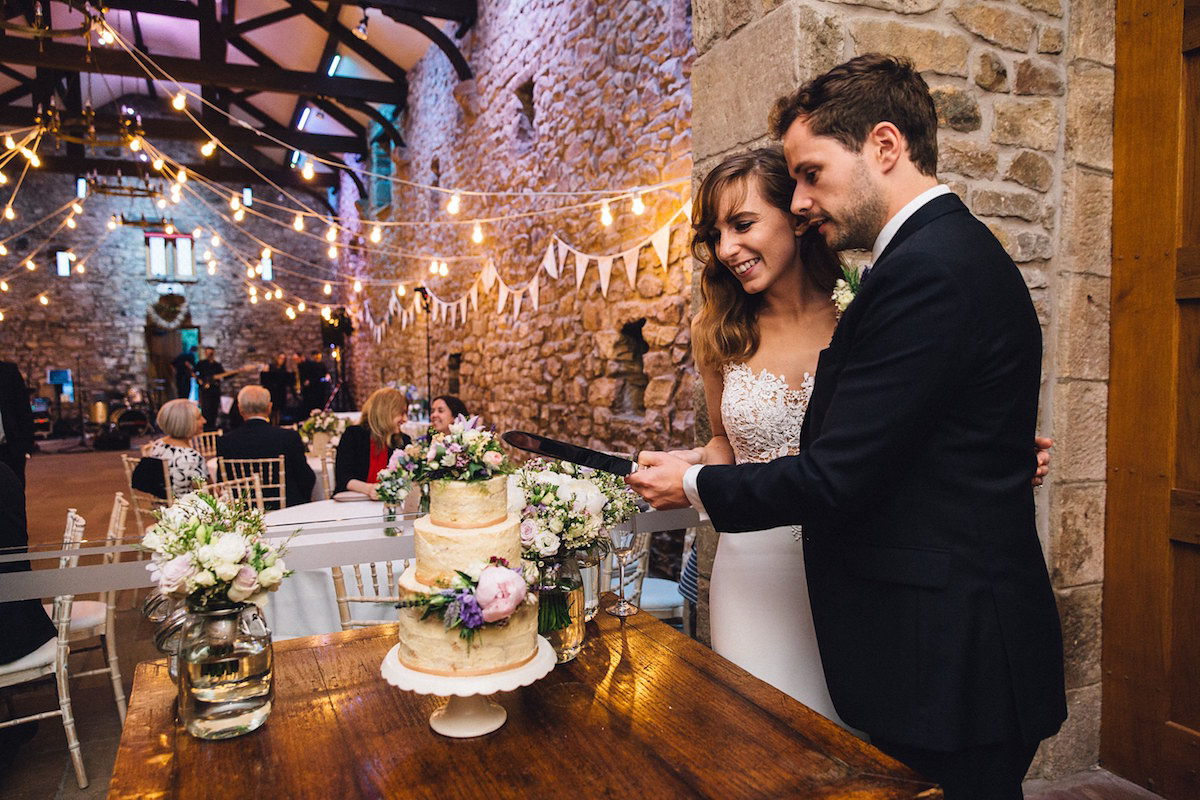
<path fill-rule="evenodd" d="M 217 456 L 221 458 L 283 456 L 288 505 L 300 505 L 312 500 L 312 487 L 317 482 L 317 476 L 305 459 L 304 440 L 295 431 L 277 428 L 270 423 L 270 392 L 262 386 L 244 386 L 238 392 L 238 408 L 241 409 L 245 421 L 241 427 L 217 439 Z M 269 507 L 275 507 L 270 497 L 266 498 L 266 503 Z"/>

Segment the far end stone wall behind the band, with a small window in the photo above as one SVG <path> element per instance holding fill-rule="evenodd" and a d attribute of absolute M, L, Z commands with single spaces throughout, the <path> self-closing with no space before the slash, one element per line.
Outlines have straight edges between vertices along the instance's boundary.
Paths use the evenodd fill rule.
<path fill-rule="evenodd" d="M 182 152 L 172 149 L 170 143 L 155 144 Z M 194 150 L 192 145 L 187 148 Z M 53 152 L 53 143 L 47 138 L 40 151 Z M 194 162 L 199 156 L 188 154 L 186 160 Z M 5 172 L 10 176 L 6 190 L 11 191 L 16 174 L 12 166 Z M 113 184 L 115 179 L 106 179 L 106 182 Z M 125 182 L 132 181 L 126 176 Z M 53 393 L 49 387 L 42 386 L 47 368 L 78 369 L 77 374 L 86 390 L 83 397 L 85 408 L 98 398 L 98 392 L 124 393 L 130 387 L 137 387 L 149 393 L 152 386 L 146 312 L 158 300 L 160 288 L 164 284 L 146 278 L 143 229 L 124 225 L 109 230 L 108 221 L 113 215 L 155 219 L 166 216 L 174 219 L 180 231 L 191 231 L 197 227 L 205 231 L 194 245 L 197 279 L 174 285 L 186 299 L 190 319 L 185 324 L 190 321 L 200 329 L 204 344 L 216 348 L 223 366 L 227 369 L 251 367 L 244 375 L 226 383 L 226 393 L 235 392 L 244 383 L 257 383 L 258 371 L 253 367 L 269 361 L 275 353 L 307 353 L 319 347 L 318 309 L 310 306 L 296 320 L 289 320 L 284 308 L 288 303 L 294 306 L 298 297 L 311 301 L 320 296 L 316 289 L 319 283 L 298 272 L 307 273 L 304 263 L 328 264 L 324 241 L 319 235 L 311 240 L 293 235 L 292 217 L 265 207 L 266 203 L 282 200 L 276 190 L 260 185 L 251 188 L 259 199 L 253 207 L 282 218 L 282 224 L 253 215 L 247 215 L 241 224 L 228 219 L 229 197 L 232 192 L 241 192 L 241 186 L 236 186 L 223 190 L 220 198 L 197 188 L 205 201 L 185 192 L 185 199 L 179 205 L 168 205 L 163 210 L 145 198 L 92 194 L 82 200 L 84 210 L 76 215 L 77 227 L 73 230 L 62 227 L 71 215 L 66 209 L 22 233 L 31 223 L 68 204 L 76 191 L 72 175 L 29 170 L 13 203 L 17 218 L 11 222 L 0 219 L 0 241 L 5 241 L 8 249 L 7 255 L 0 257 L 0 277 L 8 284 L 7 291 L 0 291 L 0 311 L 4 312 L 0 359 L 17 362 L 25 379 L 47 396 Z M 220 247 L 211 245 L 214 231 L 221 236 Z M 262 241 L 275 249 L 276 278 L 272 285 L 283 290 L 283 299 L 252 305 L 245 276 L 246 261 L 258 259 Z M 59 277 L 54 253 L 60 249 L 76 253 L 77 265 L 83 263 L 84 272 Z M 214 252 L 217 261 L 217 271 L 212 276 L 202 260 L 206 249 Z M 37 265 L 35 271 L 22 266 L 31 254 Z M 262 297 L 266 287 L 260 281 L 254 283 L 260 287 Z M 37 302 L 41 294 L 46 295 L 48 305 Z M 156 401 L 173 396 L 169 380 L 167 385 L 167 395 L 155 397 Z M 72 416 L 74 409 L 65 409 L 65 413 Z"/>

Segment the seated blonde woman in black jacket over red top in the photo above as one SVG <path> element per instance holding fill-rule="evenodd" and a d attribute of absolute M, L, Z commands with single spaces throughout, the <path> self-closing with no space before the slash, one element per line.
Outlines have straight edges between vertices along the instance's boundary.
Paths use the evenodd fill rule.
<path fill-rule="evenodd" d="M 388 465 L 391 451 L 410 439 L 400 426 L 408 420 L 408 401 L 395 389 L 377 389 L 362 404 L 362 420 L 342 432 L 334 463 L 334 492 L 360 492 L 372 500 L 376 474 Z M 398 440 L 398 444 L 397 444 Z"/>

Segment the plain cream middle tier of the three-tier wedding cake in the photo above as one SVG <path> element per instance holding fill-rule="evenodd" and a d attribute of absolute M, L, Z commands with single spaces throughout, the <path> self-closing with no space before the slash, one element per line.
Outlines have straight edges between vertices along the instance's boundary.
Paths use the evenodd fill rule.
<path fill-rule="evenodd" d="M 430 517 L 413 523 L 416 579 L 428 587 L 445 587 L 458 570 L 472 576 L 494 555 L 521 566 L 521 517 L 508 515 L 494 525 L 473 530 L 434 525 Z"/>

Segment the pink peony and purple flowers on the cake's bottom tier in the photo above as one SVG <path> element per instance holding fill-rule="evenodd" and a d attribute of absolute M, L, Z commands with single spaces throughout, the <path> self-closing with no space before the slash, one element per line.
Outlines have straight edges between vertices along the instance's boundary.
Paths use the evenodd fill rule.
<path fill-rule="evenodd" d="M 527 591 L 521 570 L 492 557 L 479 578 L 458 571 L 449 588 L 402 600 L 396 607 L 424 607 L 422 620 L 437 616 L 446 631 L 458 628 L 458 637 L 467 642 L 469 649 L 480 628 L 485 625 L 508 625 L 509 618 L 527 601 L 535 603 L 536 599 Z"/>

